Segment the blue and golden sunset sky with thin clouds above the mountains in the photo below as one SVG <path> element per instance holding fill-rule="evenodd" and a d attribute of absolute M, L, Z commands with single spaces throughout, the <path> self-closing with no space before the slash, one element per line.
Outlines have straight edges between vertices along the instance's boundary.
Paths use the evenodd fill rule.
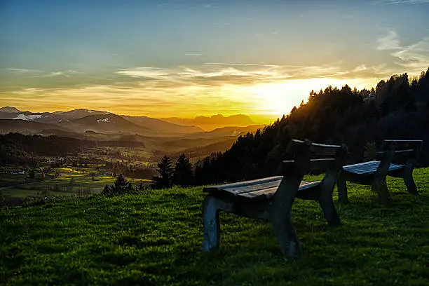
<path fill-rule="evenodd" d="M 0 0 L 0 107 L 264 121 L 311 90 L 418 76 L 428 15 L 429 0 Z"/>

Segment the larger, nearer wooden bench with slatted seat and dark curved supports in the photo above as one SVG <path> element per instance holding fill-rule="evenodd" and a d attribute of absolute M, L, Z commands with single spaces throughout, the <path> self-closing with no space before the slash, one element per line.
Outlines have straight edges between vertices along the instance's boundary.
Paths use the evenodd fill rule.
<path fill-rule="evenodd" d="M 327 222 L 331 225 L 341 223 L 332 192 L 347 155 L 346 146 L 292 139 L 287 154 L 293 160 L 283 161 L 283 176 L 204 188 L 208 193 L 203 202 L 204 251 L 219 247 L 221 210 L 243 217 L 268 219 L 280 243 L 280 250 L 286 257 L 301 256 L 301 247 L 291 220 L 294 198 L 318 200 Z M 327 172 L 322 181 L 303 182 L 309 170 Z"/>

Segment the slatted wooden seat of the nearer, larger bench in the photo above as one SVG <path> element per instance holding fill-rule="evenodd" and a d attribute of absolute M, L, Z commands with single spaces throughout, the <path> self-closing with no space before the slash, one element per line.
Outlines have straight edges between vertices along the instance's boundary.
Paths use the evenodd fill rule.
<path fill-rule="evenodd" d="M 283 176 L 254 179 L 252 181 L 238 182 L 233 184 L 222 184 L 217 186 L 207 186 L 204 191 L 217 196 L 229 196 L 236 199 L 245 200 L 268 200 L 277 191 Z M 297 192 L 297 198 L 307 198 L 306 191 L 313 191 L 322 181 L 306 182 L 301 181 Z"/>

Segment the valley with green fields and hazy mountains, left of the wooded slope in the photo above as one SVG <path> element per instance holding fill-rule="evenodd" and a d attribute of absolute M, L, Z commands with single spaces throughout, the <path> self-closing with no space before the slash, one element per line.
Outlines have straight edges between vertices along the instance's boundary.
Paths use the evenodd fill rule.
<path fill-rule="evenodd" d="M 203 117 L 203 116 L 201 116 Z M 201 117 L 195 122 L 201 121 Z M 247 116 L 212 116 L 213 130 L 147 116 L 75 109 L 53 113 L 0 109 L 0 188 L 8 200 L 100 193 L 123 174 L 148 185 L 164 155 L 185 154 L 193 165 L 226 151 L 240 135 L 255 132 Z M 232 126 L 231 123 L 252 123 Z M 190 121 L 189 121 L 190 122 Z M 189 123 L 188 122 L 188 123 Z M 18 174 L 24 172 L 24 174 Z M 30 176 L 29 172 L 34 172 Z M 15 203 L 16 203 L 15 202 Z"/>

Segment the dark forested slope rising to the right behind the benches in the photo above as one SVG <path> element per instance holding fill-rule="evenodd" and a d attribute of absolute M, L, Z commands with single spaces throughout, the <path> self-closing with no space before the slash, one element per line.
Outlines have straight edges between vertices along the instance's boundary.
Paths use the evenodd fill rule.
<path fill-rule="evenodd" d="M 365 146 L 382 139 L 423 139 L 420 165 L 429 165 L 429 69 L 380 81 L 372 90 L 311 91 L 289 115 L 256 133 L 238 137 L 231 149 L 196 163 L 196 184 L 237 182 L 276 175 L 291 138 L 348 145 L 349 163 L 363 160 Z"/>

